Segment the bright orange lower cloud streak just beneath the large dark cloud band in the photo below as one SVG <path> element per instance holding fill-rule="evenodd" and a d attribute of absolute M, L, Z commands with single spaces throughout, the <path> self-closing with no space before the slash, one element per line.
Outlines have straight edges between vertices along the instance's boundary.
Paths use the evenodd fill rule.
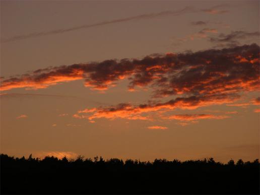
<path fill-rule="evenodd" d="M 140 105 L 132 105 L 130 103 L 121 103 L 115 106 L 97 107 L 93 108 L 93 112 L 78 111 L 73 117 L 80 119 L 93 120 L 97 118 L 116 119 L 123 118 L 128 120 L 155 120 L 155 119 L 169 119 L 168 116 L 160 115 L 176 108 L 180 109 L 196 109 L 198 107 L 209 105 L 220 105 L 228 102 L 233 102 L 238 95 L 210 95 L 210 96 L 190 96 L 178 97 L 164 103 L 148 103 Z M 89 110 L 89 109 L 88 109 Z M 194 116 L 195 117 L 195 116 Z M 197 116 L 197 117 L 211 117 L 220 119 L 222 116 Z"/>

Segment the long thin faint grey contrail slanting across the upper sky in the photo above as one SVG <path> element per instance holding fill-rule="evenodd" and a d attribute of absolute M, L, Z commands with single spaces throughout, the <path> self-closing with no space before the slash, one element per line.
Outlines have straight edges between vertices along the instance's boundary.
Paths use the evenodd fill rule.
<path fill-rule="evenodd" d="M 122 22 L 127 22 L 127 21 L 132 21 L 132 20 L 151 19 L 151 18 L 156 18 L 156 17 L 161 17 L 161 16 L 178 16 L 181 14 L 185 14 L 187 12 L 193 12 L 193 9 L 191 7 L 185 7 L 184 9 L 178 10 L 178 11 L 164 11 L 164 12 L 159 12 L 159 13 L 143 14 L 143 15 L 138 15 L 138 16 L 133 16 L 133 17 L 128 17 L 128 18 L 117 19 L 117 20 L 104 21 L 104 22 L 95 23 L 95 24 L 76 26 L 76 27 L 72 27 L 72 28 L 58 29 L 58 30 L 52 30 L 52 31 L 47 31 L 47 32 L 35 32 L 35 33 L 13 36 L 10 38 L 2 39 L 1 42 L 7 43 L 7 42 L 16 41 L 16 40 L 23 40 L 23 39 L 33 38 L 33 37 L 66 33 L 66 32 L 80 30 L 80 29 L 84 29 L 84 28 L 92 28 L 92 27 L 103 26 L 103 25 L 108 25 L 108 24 L 122 23 Z"/>

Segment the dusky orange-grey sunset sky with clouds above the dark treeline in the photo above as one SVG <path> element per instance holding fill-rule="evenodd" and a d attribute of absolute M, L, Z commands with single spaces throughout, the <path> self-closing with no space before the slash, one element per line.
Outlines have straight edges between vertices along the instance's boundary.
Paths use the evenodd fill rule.
<path fill-rule="evenodd" d="M 259 1 L 1 1 L 1 153 L 259 158 Z"/>

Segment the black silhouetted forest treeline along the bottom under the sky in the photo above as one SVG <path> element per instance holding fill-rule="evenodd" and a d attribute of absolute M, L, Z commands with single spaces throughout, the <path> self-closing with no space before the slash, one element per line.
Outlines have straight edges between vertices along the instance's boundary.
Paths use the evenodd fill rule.
<path fill-rule="evenodd" d="M 259 194 L 259 165 L 1 154 L 1 194 Z"/>

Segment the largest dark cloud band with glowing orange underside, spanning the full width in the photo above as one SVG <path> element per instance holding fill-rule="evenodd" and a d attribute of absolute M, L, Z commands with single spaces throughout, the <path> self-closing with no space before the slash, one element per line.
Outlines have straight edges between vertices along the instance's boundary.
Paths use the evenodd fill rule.
<path fill-rule="evenodd" d="M 0 89 L 41 89 L 85 79 L 86 87 L 106 90 L 120 80 L 129 79 L 129 89 L 150 86 L 155 89 L 155 97 L 252 91 L 259 88 L 258 62 L 259 46 L 252 44 L 37 70 L 3 80 Z"/>

